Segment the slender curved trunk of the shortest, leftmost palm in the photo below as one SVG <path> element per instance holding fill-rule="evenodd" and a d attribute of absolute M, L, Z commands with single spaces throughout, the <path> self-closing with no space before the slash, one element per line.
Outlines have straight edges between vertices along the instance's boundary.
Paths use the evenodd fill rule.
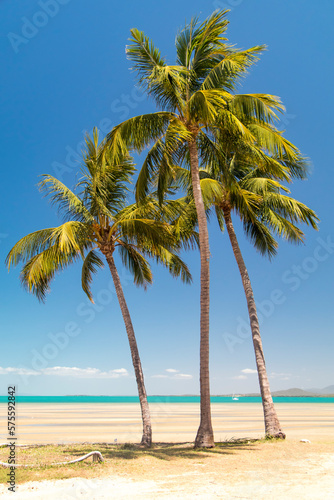
<path fill-rule="evenodd" d="M 128 339 L 129 339 L 132 364 L 133 364 L 133 367 L 135 370 L 135 375 L 136 375 L 140 408 L 141 408 L 141 414 L 142 414 L 142 420 L 143 420 L 143 436 L 142 436 L 141 444 L 149 447 L 152 444 L 151 417 L 150 417 L 150 410 L 149 410 L 149 406 L 148 406 L 148 402 L 147 402 L 147 394 L 146 394 L 145 383 L 144 383 L 144 375 L 143 375 L 143 370 L 142 370 L 142 366 L 141 366 L 141 362 L 140 362 L 135 332 L 134 332 L 134 329 L 132 326 L 132 321 L 131 321 L 129 309 L 128 309 L 128 306 L 127 306 L 126 301 L 125 301 L 121 281 L 120 281 L 119 276 L 118 276 L 118 272 L 117 272 L 117 269 L 115 266 L 115 262 L 114 262 L 114 258 L 112 256 L 112 253 L 108 252 L 108 251 L 104 251 L 103 253 L 104 253 L 106 260 L 108 262 L 108 265 L 109 265 L 109 269 L 110 269 L 112 279 L 113 279 L 113 282 L 115 285 L 115 290 L 116 290 L 118 302 L 119 302 L 119 305 L 120 305 L 120 308 L 122 311 L 122 316 L 123 316 L 124 323 L 125 323 L 126 333 L 128 335 Z"/>

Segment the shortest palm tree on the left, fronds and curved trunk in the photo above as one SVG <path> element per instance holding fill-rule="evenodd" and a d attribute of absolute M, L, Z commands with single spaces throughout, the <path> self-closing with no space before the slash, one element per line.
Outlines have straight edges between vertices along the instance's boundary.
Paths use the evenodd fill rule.
<path fill-rule="evenodd" d="M 157 202 L 151 199 L 140 207 L 125 205 L 127 184 L 135 172 L 131 158 L 119 156 L 115 161 L 108 150 L 101 154 L 104 145 L 98 145 L 97 129 L 94 129 L 93 139 L 86 139 L 86 145 L 84 177 L 78 184 L 81 189 L 79 195 L 50 175 L 43 176 L 40 183 L 40 189 L 46 191 L 66 222 L 20 239 L 9 252 L 6 262 L 8 268 L 24 263 L 20 275 L 22 284 L 44 301 L 54 275 L 82 258 L 82 288 L 93 302 L 90 285 L 93 274 L 104 265 L 99 253 L 105 257 L 124 319 L 137 381 L 143 420 L 141 444 L 151 446 L 152 429 L 144 375 L 114 251 L 117 248 L 120 252 L 122 262 L 132 273 L 136 285 L 146 287 L 152 282 L 145 256 L 156 258 L 185 282 L 191 281 L 191 275 L 175 253 L 180 243 L 176 243 L 174 230 L 162 220 L 163 212 Z M 168 210 L 165 212 L 168 213 Z M 157 214 L 160 220 L 154 219 Z M 187 238 L 191 240 L 192 236 L 187 234 Z"/>

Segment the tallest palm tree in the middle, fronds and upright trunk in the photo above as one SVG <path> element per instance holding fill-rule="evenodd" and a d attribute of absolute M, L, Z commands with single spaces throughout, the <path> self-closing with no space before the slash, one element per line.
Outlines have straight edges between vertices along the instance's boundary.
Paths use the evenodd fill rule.
<path fill-rule="evenodd" d="M 235 111 L 270 121 L 279 100 L 267 94 L 233 95 L 239 77 L 244 75 L 264 47 L 238 50 L 226 43 L 224 33 L 228 11 L 214 12 L 203 23 L 197 19 L 176 37 L 176 65 L 167 65 L 153 42 L 137 29 L 127 48 L 139 83 L 157 106 L 156 113 L 130 118 L 108 134 L 106 144 L 112 151 L 125 154 L 129 149 L 143 151 L 151 147 L 138 176 L 137 200 L 149 191 L 158 172 L 160 202 L 174 175 L 175 165 L 188 162 L 196 206 L 200 261 L 200 394 L 201 420 L 196 447 L 213 447 L 209 382 L 209 285 L 210 251 L 205 207 L 202 199 L 199 167 L 215 154 L 212 137 L 224 129 L 231 137 L 242 136 L 252 143 L 254 135 L 236 116 Z M 265 132 L 262 133 L 265 141 Z"/>

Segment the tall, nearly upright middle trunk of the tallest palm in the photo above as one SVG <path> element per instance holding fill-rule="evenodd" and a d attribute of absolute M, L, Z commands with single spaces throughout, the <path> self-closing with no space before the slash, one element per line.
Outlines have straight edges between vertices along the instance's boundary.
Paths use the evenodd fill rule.
<path fill-rule="evenodd" d="M 189 141 L 191 180 L 197 212 L 201 256 L 201 342 L 200 342 L 200 393 L 201 421 L 195 439 L 195 447 L 213 448 L 214 437 L 211 422 L 209 376 L 209 307 L 210 307 L 210 249 L 206 213 L 202 198 L 198 152 L 195 140 Z"/>

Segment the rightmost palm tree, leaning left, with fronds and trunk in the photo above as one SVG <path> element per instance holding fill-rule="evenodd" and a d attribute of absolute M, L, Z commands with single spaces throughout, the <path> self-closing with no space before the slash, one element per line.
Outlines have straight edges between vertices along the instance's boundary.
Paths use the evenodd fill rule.
<path fill-rule="evenodd" d="M 279 134 L 273 130 L 274 133 Z M 221 151 L 224 149 L 223 151 Z M 231 213 L 235 211 L 244 226 L 246 235 L 255 247 L 264 255 L 276 254 L 277 242 L 273 234 L 282 236 L 287 241 L 299 243 L 304 234 L 296 226 L 303 222 L 317 229 L 318 218 L 306 205 L 291 198 L 290 191 L 277 181 L 283 177 L 304 177 L 306 164 L 301 154 L 297 161 L 290 163 L 283 155 L 270 157 L 257 148 L 242 147 L 234 142 L 233 154 L 228 154 L 226 143 L 220 141 L 217 151 L 221 155 L 212 161 L 205 170 L 200 171 L 201 189 L 207 204 L 215 206 L 220 228 L 226 227 L 234 257 L 236 259 L 243 288 L 245 291 L 256 366 L 264 411 L 265 433 L 267 437 L 285 438 L 273 404 L 269 380 L 266 371 L 260 327 L 256 304 L 249 274 L 238 244 L 232 223 Z M 275 169 L 269 178 L 268 163 L 274 161 Z M 187 172 L 181 172 L 180 178 L 186 179 Z M 275 179 L 276 177 L 276 179 Z M 188 181 L 190 184 L 190 181 Z M 287 194 L 283 194 L 285 192 Z"/>

